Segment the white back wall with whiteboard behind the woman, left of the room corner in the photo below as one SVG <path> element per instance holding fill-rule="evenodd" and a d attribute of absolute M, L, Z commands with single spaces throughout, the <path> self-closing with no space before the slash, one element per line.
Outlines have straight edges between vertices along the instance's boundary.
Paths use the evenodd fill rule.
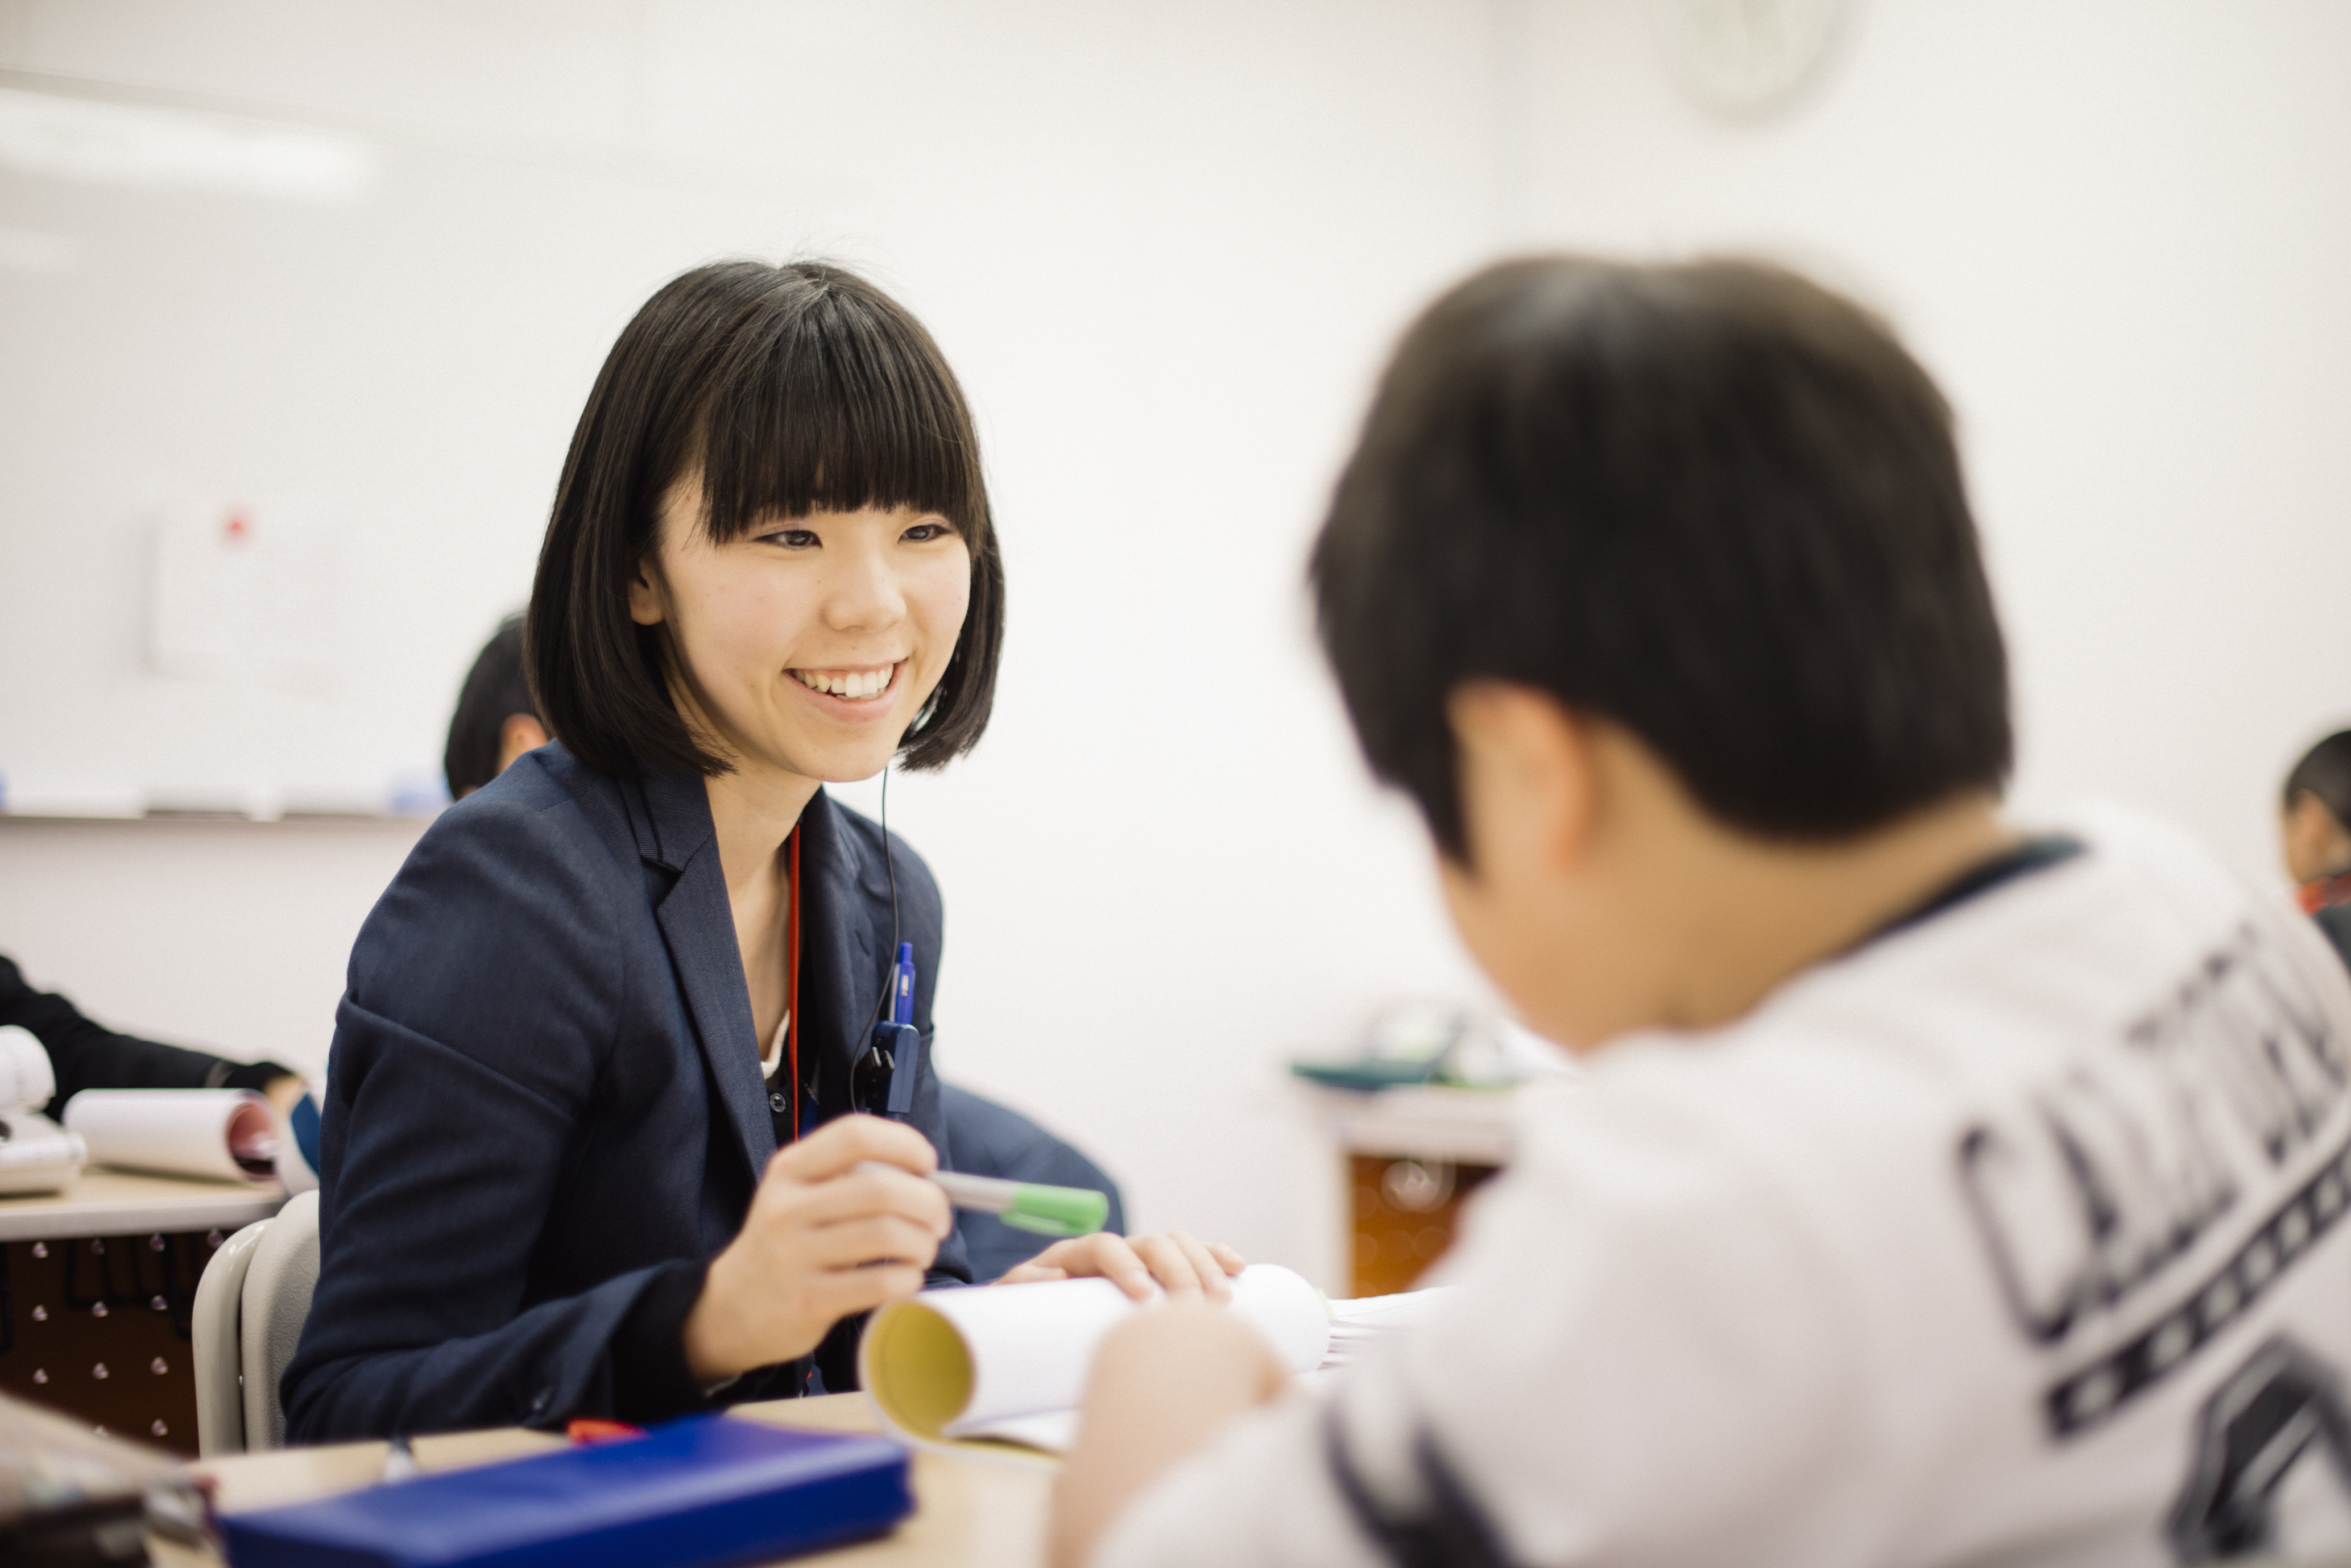
<path fill-rule="evenodd" d="M 40 583 L 0 623 L 0 769 L 430 766 L 628 313 L 712 254 L 846 256 L 971 390 L 1011 574 L 985 748 L 891 799 L 947 889 L 943 1065 L 1100 1152 L 1140 1220 L 1321 1269 L 1310 1206 L 1267 1201 L 1321 1175 L 1281 1060 L 1474 983 L 1298 576 L 1371 367 L 1488 249 L 1493 42 L 1441 0 L 0 5 L 0 85 L 376 167 L 320 212 L 0 172 L 0 228 L 75 244 L 0 273 L 0 571 Z M 141 668 L 122 583 L 172 484 L 355 520 L 331 696 Z M 0 950 L 127 1025 L 317 1063 L 388 844 L 0 825 Z M 136 940 L 106 898 L 153 914 Z"/>

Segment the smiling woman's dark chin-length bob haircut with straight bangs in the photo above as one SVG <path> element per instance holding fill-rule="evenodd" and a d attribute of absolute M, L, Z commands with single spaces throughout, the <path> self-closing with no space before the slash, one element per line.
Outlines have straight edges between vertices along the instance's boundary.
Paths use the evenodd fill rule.
<path fill-rule="evenodd" d="M 1004 646 L 1004 562 L 955 371 L 905 306 L 853 273 L 722 261 L 665 284 L 621 331 L 564 458 L 527 656 L 538 712 L 574 757 L 616 778 L 734 766 L 677 717 L 661 628 L 628 616 L 661 498 L 694 470 L 712 543 L 769 517 L 868 505 L 952 522 L 971 552 L 971 609 L 898 759 L 936 769 L 978 743 Z"/>

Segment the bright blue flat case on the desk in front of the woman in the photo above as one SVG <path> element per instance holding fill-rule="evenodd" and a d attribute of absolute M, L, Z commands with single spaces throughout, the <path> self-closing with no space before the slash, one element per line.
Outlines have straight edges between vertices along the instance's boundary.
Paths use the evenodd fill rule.
<path fill-rule="evenodd" d="M 717 1568 L 882 1535 L 905 1448 L 694 1415 L 644 1436 L 228 1514 L 235 1568 Z"/>

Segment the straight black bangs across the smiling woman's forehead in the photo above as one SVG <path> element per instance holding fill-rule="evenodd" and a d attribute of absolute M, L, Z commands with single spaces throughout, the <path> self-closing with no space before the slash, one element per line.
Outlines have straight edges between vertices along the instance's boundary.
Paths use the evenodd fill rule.
<path fill-rule="evenodd" d="M 806 270 L 820 275 L 797 299 L 745 322 L 701 404 L 712 543 L 868 505 L 940 512 L 969 538 L 985 522 L 980 454 L 947 362 L 858 280 Z"/>

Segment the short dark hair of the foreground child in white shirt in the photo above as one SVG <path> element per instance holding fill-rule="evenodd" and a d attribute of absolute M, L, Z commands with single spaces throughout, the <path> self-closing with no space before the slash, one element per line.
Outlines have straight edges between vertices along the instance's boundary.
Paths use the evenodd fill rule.
<path fill-rule="evenodd" d="M 1455 860 L 1446 698 L 1479 677 L 1622 724 L 1773 839 L 2008 776 L 1949 404 L 1780 268 L 1547 256 L 1455 287 L 1380 381 L 1312 583 L 1371 769 Z"/>

